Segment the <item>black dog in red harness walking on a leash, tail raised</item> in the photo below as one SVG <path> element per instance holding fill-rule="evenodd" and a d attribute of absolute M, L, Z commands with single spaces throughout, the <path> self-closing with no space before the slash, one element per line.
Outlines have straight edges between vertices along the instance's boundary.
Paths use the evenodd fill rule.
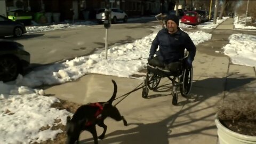
<path fill-rule="evenodd" d="M 107 102 L 96 102 L 88 103 L 79 107 L 72 119 L 67 117 L 66 132 L 67 132 L 67 144 L 73 144 L 75 142 L 79 143 L 79 135 L 82 131 L 86 130 L 92 133 L 93 140 L 95 144 L 98 144 L 97 131 L 95 125 L 103 127 L 104 131 L 99 136 L 99 139 L 105 137 L 107 131 L 107 125 L 104 124 L 104 119 L 111 117 L 116 121 L 123 120 L 124 125 L 127 126 L 127 122 L 123 116 L 119 113 L 118 109 L 112 105 L 112 102 L 116 98 L 117 86 L 116 82 L 113 81 L 114 92 L 112 97 Z"/>

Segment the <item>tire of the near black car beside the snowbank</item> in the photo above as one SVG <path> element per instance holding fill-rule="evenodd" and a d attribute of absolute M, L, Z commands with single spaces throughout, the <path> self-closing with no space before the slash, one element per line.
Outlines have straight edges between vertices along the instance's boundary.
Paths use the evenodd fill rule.
<path fill-rule="evenodd" d="M 8 82 L 17 78 L 20 71 L 19 61 L 13 57 L 0 58 L 0 81 Z"/>

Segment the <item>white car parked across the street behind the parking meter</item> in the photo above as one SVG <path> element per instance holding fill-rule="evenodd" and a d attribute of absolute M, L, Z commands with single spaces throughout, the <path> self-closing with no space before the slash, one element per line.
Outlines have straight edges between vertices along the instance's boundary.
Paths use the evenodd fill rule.
<path fill-rule="evenodd" d="M 105 9 L 99 9 L 96 14 L 96 19 L 101 24 L 105 20 Z M 118 8 L 111 8 L 111 23 L 116 23 L 117 21 L 122 20 L 124 22 L 127 22 L 128 16 L 127 14 L 118 9 Z"/>

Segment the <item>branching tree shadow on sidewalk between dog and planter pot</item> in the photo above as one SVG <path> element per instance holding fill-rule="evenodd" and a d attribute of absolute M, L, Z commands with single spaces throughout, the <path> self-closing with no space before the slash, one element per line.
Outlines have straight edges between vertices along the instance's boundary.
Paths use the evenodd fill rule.
<path fill-rule="evenodd" d="M 194 139 L 194 137 L 198 138 L 198 136 L 207 136 L 212 137 L 213 139 L 217 138 L 217 134 L 212 134 L 212 132 L 207 133 L 209 130 L 215 131 L 214 122 L 209 124 L 209 119 L 213 117 L 215 113 L 207 113 L 201 117 L 193 117 L 195 113 L 201 113 L 201 111 L 213 108 L 215 106 L 215 103 L 212 103 L 205 108 L 196 109 L 196 107 L 202 102 L 203 101 L 193 103 L 192 105 L 183 108 L 178 113 L 175 113 L 174 115 L 167 117 L 160 122 L 149 124 L 131 123 L 129 125 L 135 125 L 135 127 L 133 126 L 134 128 L 129 130 L 117 130 L 111 133 L 107 133 L 106 139 L 99 140 L 99 143 L 169 144 L 169 141 L 172 141 L 170 139 L 173 139 L 173 141 L 175 141 L 174 143 L 178 143 L 190 141 L 191 139 Z M 180 117 L 182 117 L 183 120 L 179 120 L 179 122 L 174 123 Z M 207 123 L 207 125 L 198 126 L 202 121 L 204 121 L 204 124 Z M 100 133 L 98 132 L 98 135 L 99 134 Z M 80 142 L 91 144 L 94 143 L 92 138 L 85 139 Z"/>

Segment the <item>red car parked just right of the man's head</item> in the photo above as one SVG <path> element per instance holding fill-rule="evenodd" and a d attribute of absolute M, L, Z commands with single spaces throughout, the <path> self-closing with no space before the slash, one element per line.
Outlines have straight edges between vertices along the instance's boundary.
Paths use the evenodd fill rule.
<path fill-rule="evenodd" d="M 181 18 L 181 23 L 186 23 L 188 25 L 199 25 L 200 24 L 200 17 L 197 12 L 187 11 Z"/>

